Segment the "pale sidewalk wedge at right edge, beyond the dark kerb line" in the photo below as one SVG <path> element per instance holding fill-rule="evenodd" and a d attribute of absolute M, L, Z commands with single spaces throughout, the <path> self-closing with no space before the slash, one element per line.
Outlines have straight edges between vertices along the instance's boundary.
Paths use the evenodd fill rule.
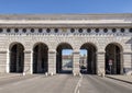
<path fill-rule="evenodd" d="M 132 84 L 132 75 L 106 75 L 106 77 Z"/>

